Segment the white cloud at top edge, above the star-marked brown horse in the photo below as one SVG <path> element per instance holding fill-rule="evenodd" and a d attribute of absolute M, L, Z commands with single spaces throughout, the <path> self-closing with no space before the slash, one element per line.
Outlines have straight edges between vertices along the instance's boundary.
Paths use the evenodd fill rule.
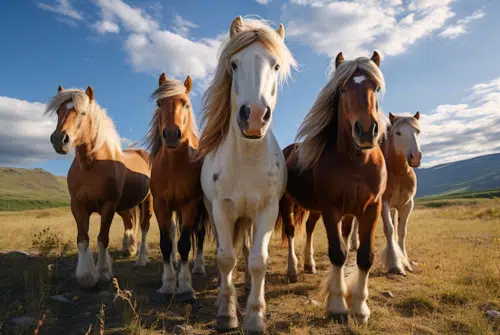
<path fill-rule="evenodd" d="M 334 57 L 349 58 L 378 50 L 385 55 L 405 52 L 419 39 L 445 24 L 455 14 L 453 0 L 292 0 L 285 16 L 287 36 Z M 300 6 L 298 8 L 297 6 Z"/>

